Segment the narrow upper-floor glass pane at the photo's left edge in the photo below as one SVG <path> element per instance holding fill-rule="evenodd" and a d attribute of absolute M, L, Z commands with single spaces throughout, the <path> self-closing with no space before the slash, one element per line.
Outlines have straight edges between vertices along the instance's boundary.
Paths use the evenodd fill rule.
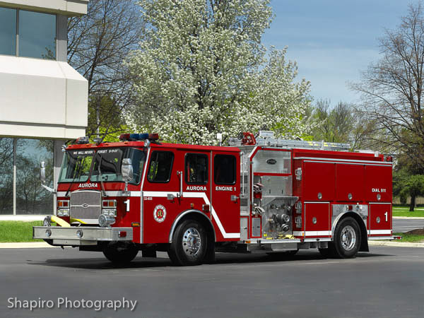
<path fill-rule="evenodd" d="M 16 10 L 0 8 L 0 54 L 16 55 Z"/>

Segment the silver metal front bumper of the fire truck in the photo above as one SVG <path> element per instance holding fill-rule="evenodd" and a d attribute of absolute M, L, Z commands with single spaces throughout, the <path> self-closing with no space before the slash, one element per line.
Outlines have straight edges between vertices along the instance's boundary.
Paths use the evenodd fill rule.
<path fill-rule="evenodd" d="M 49 230 L 49 231 L 47 231 Z M 47 232 L 49 235 L 47 235 Z M 132 241 L 132 228 L 95 228 L 89 226 L 34 226 L 33 238 L 49 240 L 52 245 L 97 245 L 98 242 Z"/>

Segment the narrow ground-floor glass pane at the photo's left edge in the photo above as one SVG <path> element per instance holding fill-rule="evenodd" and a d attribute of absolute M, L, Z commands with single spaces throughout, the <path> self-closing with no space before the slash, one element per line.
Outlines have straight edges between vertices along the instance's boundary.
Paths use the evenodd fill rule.
<path fill-rule="evenodd" d="M 12 138 L 0 138 L 0 214 L 13 214 Z"/>

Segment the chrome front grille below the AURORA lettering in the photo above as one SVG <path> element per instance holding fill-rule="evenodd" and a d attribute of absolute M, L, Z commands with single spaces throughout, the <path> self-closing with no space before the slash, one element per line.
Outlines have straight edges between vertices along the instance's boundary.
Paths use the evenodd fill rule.
<path fill-rule="evenodd" d="M 71 218 L 85 223 L 98 223 L 102 213 L 102 194 L 99 191 L 76 191 L 71 193 Z"/>

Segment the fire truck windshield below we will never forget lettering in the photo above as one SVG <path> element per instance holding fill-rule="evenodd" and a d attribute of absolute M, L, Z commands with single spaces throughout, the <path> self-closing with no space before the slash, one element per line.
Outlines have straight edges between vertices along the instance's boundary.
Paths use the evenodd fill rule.
<path fill-rule="evenodd" d="M 122 159 L 130 158 L 134 179 L 139 184 L 146 161 L 145 151 L 134 148 L 66 151 L 59 182 L 122 182 Z"/>

